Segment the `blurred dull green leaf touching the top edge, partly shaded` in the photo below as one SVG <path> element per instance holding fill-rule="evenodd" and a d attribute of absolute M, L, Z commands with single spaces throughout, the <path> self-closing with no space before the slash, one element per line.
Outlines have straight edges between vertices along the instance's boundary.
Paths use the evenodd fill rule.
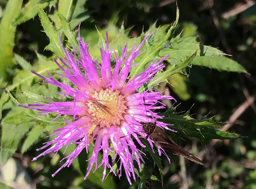
<path fill-rule="evenodd" d="M 87 13 L 86 9 L 84 9 L 84 4 L 86 3 L 86 1 L 87 0 L 77 0 L 75 9 L 70 20 L 71 29 L 74 29 L 80 22 L 83 22 L 84 20 L 90 18 L 90 14 Z"/>

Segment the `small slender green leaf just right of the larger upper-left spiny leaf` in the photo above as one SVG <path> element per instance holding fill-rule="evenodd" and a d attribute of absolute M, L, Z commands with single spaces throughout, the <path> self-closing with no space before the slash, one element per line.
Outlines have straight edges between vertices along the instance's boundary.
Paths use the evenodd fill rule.
<path fill-rule="evenodd" d="M 74 32 L 71 31 L 68 21 L 65 19 L 65 17 L 63 15 L 61 15 L 59 13 L 58 13 L 58 16 L 59 16 L 60 22 L 62 24 L 61 31 L 65 34 L 65 36 L 67 36 L 68 42 L 72 46 L 79 48 L 78 42 L 76 40 L 76 35 L 74 34 Z"/>

